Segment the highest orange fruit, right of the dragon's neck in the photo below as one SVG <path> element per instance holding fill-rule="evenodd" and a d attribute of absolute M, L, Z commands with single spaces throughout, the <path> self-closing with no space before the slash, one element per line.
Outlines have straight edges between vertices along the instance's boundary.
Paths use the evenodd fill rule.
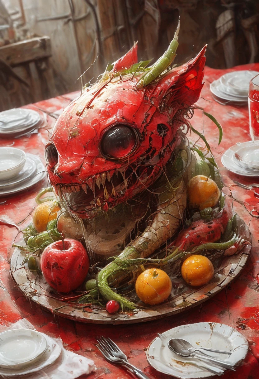
<path fill-rule="evenodd" d="M 220 190 L 214 180 L 205 175 L 196 175 L 189 180 L 188 187 L 189 207 L 203 210 L 215 207 L 220 198 Z"/>

